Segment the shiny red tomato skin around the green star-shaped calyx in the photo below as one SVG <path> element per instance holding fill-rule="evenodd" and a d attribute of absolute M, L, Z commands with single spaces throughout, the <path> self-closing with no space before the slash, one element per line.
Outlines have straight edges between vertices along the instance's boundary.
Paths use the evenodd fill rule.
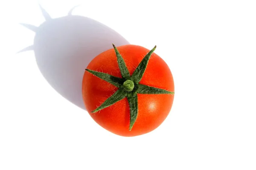
<path fill-rule="evenodd" d="M 143 57 L 150 51 L 139 45 L 122 45 L 117 49 L 122 55 L 130 74 L 134 72 Z M 114 49 L 109 49 L 96 56 L 89 63 L 87 69 L 122 78 Z M 174 92 L 172 73 L 166 62 L 155 53 L 149 59 L 140 84 Z M 138 136 L 151 132 L 162 124 L 171 111 L 174 95 L 138 94 L 139 111 L 131 131 L 129 131 L 130 109 L 126 97 L 108 108 L 90 113 L 117 89 L 105 80 L 87 71 L 84 72 L 82 95 L 85 108 L 95 122 L 112 133 L 120 136 Z"/>

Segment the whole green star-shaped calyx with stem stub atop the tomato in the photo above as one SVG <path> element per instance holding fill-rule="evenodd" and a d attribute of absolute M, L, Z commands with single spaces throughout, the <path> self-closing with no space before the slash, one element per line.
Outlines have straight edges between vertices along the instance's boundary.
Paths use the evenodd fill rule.
<path fill-rule="evenodd" d="M 112 44 L 113 45 L 113 44 Z M 124 99 L 127 97 L 128 103 L 130 106 L 130 127 L 129 130 L 131 131 L 137 116 L 138 116 L 138 96 L 137 94 L 174 94 L 172 91 L 166 91 L 160 88 L 154 88 L 147 85 L 140 84 L 140 80 L 143 77 L 143 74 L 147 68 L 148 61 L 151 57 L 151 54 L 154 52 L 157 46 L 148 52 L 145 57 L 142 59 L 138 67 L 135 69 L 134 73 L 130 75 L 128 68 L 125 65 L 125 61 L 122 58 L 121 54 L 117 50 L 116 46 L 113 45 L 113 48 L 116 53 L 117 63 L 119 69 L 121 71 L 122 78 L 114 77 L 110 74 L 93 71 L 89 69 L 85 69 L 86 71 L 90 72 L 91 74 L 99 77 L 100 79 L 105 80 L 106 82 L 111 83 L 112 85 L 119 88 L 112 96 L 105 100 L 98 108 L 96 108 L 91 113 L 96 113 L 104 108 L 107 108 L 114 103 Z"/>

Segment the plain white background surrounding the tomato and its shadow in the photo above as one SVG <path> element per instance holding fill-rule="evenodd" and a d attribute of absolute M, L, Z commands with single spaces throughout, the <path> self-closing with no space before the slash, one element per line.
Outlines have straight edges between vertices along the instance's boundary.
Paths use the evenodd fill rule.
<path fill-rule="evenodd" d="M 168 3 L 167 3 L 168 2 Z M 254 0 L 41 0 L 52 18 L 90 17 L 155 51 L 175 81 L 160 127 L 121 137 L 44 79 L 35 33 L 37 1 L 0 4 L 0 170 L 255 170 L 256 3 Z M 86 66 L 85 66 L 86 67 Z"/>

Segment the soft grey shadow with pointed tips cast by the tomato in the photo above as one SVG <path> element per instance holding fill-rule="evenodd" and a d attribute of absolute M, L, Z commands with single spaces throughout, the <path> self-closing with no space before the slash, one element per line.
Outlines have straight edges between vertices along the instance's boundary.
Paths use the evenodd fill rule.
<path fill-rule="evenodd" d="M 39 27 L 23 24 L 35 31 L 33 50 L 41 74 L 61 96 L 84 110 L 82 78 L 89 62 L 98 54 L 116 46 L 129 44 L 113 29 L 96 20 L 79 15 L 49 18 Z M 48 15 L 48 16 L 46 16 Z"/>

